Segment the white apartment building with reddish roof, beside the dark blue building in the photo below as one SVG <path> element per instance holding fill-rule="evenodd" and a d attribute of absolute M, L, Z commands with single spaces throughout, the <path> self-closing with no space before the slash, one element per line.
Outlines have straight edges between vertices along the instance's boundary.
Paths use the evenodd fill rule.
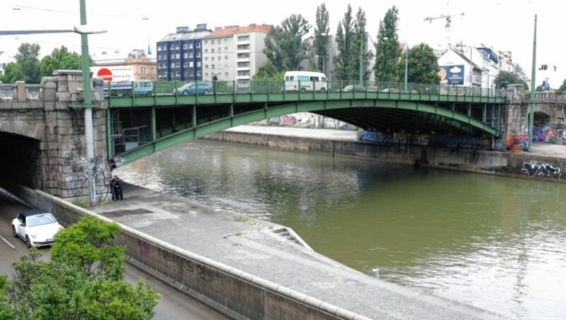
<path fill-rule="evenodd" d="M 202 79 L 238 81 L 248 84 L 259 67 L 267 61 L 264 40 L 270 25 L 218 27 L 202 40 Z"/>

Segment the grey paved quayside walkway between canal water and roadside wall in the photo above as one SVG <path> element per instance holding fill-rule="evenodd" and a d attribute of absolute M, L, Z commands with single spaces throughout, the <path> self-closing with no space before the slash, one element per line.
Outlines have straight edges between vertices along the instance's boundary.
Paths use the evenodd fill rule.
<path fill-rule="evenodd" d="M 91 209 L 169 244 L 373 319 L 502 319 L 359 273 L 275 233 L 282 226 L 135 185 Z"/>

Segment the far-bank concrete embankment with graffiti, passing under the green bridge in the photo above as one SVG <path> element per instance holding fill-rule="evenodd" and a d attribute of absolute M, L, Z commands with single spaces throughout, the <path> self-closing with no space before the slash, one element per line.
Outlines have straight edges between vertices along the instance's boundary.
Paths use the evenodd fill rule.
<path fill-rule="evenodd" d="M 355 132 L 289 127 L 241 126 L 204 139 L 395 164 L 429 166 L 516 178 L 562 182 L 566 146 L 533 144 L 531 152 L 496 152 L 458 148 L 378 144 L 357 141 Z"/>

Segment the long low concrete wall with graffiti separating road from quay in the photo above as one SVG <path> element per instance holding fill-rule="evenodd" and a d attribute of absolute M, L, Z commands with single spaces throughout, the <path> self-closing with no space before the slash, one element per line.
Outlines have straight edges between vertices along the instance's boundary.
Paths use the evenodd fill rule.
<path fill-rule="evenodd" d="M 23 200 L 50 210 L 64 224 L 81 217 L 113 222 L 40 190 L 19 191 Z M 129 263 L 233 319 L 369 319 L 119 225 L 115 244 L 126 246 Z"/>

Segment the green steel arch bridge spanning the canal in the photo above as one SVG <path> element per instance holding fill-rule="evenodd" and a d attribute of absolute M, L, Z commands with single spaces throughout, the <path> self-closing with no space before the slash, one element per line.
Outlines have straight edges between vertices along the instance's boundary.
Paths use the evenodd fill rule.
<path fill-rule="evenodd" d="M 505 103 L 501 91 L 431 84 L 405 89 L 398 83 L 335 81 L 315 92 L 286 91 L 284 81 L 216 81 L 203 82 L 192 95 L 178 89 L 184 84 L 105 84 L 112 168 L 212 132 L 302 112 L 364 130 L 499 137 Z"/>

